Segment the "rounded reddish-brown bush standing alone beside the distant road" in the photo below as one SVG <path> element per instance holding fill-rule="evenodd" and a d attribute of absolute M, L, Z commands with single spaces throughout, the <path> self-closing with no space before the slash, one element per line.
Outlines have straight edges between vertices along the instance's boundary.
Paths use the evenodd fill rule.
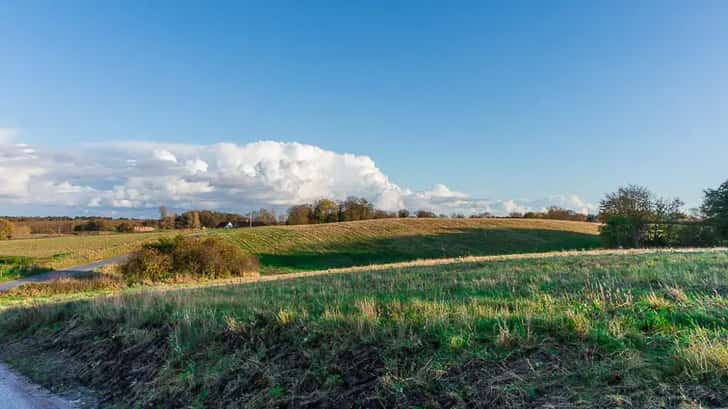
<path fill-rule="evenodd" d="M 258 271 L 255 256 L 219 238 L 177 236 L 144 245 L 121 267 L 130 284 L 242 277 Z"/>

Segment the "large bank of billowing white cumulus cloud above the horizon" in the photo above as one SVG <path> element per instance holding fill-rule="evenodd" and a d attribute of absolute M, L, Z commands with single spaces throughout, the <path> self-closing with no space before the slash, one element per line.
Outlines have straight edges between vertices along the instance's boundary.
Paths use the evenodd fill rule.
<path fill-rule="evenodd" d="M 390 181 L 367 156 L 300 143 L 129 142 L 88 145 L 73 152 L 0 143 L 0 204 L 61 205 L 79 212 L 152 212 L 160 205 L 246 211 L 348 196 L 365 197 L 385 210 L 446 214 L 507 214 L 549 205 L 594 210 L 573 195 L 494 201 L 474 199 L 442 184 L 412 191 Z"/>

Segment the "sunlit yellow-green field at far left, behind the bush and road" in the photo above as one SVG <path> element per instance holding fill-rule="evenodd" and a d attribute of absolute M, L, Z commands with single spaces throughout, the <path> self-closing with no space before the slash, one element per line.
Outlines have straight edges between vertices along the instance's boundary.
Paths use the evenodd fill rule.
<path fill-rule="evenodd" d="M 185 232 L 188 233 L 188 232 Z M 0 256 L 23 257 L 43 269 L 60 269 L 129 254 L 142 244 L 179 232 L 59 236 L 0 241 Z"/>

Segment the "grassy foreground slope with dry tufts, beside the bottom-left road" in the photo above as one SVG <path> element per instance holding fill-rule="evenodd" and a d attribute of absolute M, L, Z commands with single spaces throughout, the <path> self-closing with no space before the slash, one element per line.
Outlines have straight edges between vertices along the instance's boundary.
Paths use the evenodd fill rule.
<path fill-rule="evenodd" d="M 728 404 L 728 252 L 402 268 L 0 314 L 0 357 L 122 406 Z"/>

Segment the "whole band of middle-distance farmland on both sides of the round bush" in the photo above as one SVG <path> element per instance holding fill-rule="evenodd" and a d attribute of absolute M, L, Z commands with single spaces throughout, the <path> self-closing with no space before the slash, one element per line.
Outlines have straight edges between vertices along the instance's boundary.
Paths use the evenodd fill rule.
<path fill-rule="evenodd" d="M 285 273 L 427 258 L 591 249 L 600 245 L 597 233 L 594 223 L 556 220 L 388 219 L 207 234 L 256 255 L 263 273 Z M 143 243 L 175 234 L 179 232 L 1 241 L 0 256 L 30 258 L 38 267 L 58 269 L 127 254 Z"/>

